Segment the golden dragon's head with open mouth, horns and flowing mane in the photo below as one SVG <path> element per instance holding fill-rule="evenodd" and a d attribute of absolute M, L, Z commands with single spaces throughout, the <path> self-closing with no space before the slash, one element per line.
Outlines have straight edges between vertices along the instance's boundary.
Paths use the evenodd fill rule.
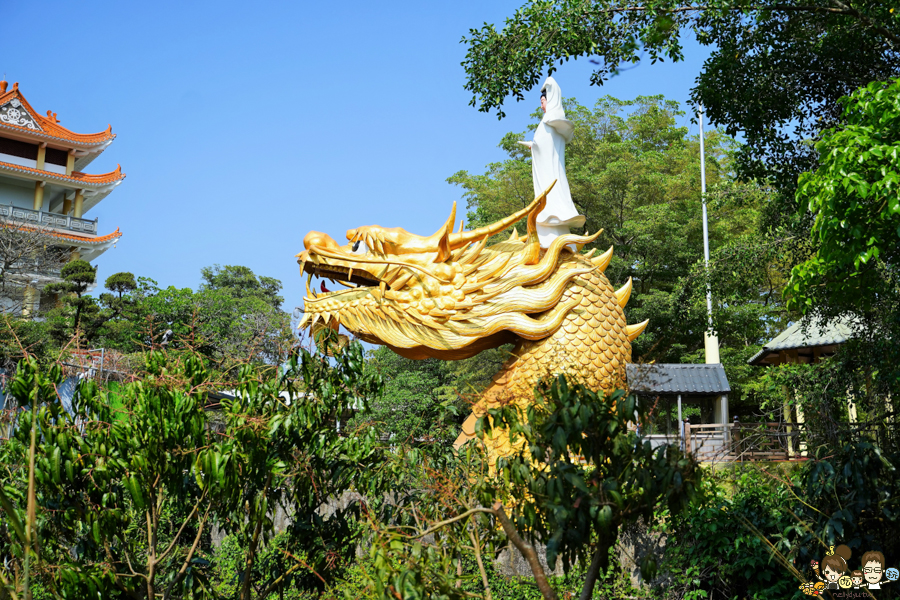
<path fill-rule="evenodd" d="M 550 188 L 526 208 L 472 231 L 453 231 L 455 203 L 447 222 L 428 237 L 373 225 L 349 230 L 342 246 L 311 231 L 297 255 L 308 275 L 299 326 L 343 325 L 408 358 L 461 359 L 517 338 L 551 335 L 578 304 L 560 302 L 566 285 L 597 268 L 560 256 L 600 232 L 564 235 L 542 249 L 536 219 Z M 490 236 L 526 216 L 524 236 L 513 230 L 508 240 L 486 246 Z M 328 291 L 323 284 L 317 294 L 310 289 L 314 275 L 346 289 Z"/>

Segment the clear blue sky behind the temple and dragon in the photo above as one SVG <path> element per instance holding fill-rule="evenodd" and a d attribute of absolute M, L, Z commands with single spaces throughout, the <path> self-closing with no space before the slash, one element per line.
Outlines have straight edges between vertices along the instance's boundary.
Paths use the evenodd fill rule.
<path fill-rule="evenodd" d="M 498 121 L 468 105 L 459 64 L 470 28 L 521 3 L 8 2 L 0 74 L 63 126 L 118 134 L 88 168 L 128 175 L 87 215 L 123 233 L 96 261 L 101 282 L 131 271 L 196 288 L 204 266 L 246 265 L 281 279 L 290 310 L 307 231 L 430 234 L 461 197 L 447 177 L 483 172 L 503 134 L 525 130 L 539 92 Z M 706 54 L 689 46 L 683 63 L 602 88 L 586 60 L 554 77 L 589 106 L 606 94 L 684 102 Z"/>

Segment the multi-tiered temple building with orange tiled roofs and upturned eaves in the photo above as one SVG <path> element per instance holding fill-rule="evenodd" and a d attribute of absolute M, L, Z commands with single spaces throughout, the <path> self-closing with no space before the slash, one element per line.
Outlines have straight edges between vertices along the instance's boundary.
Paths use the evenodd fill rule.
<path fill-rule="evenodd" d="M 74 133 L 56 113 L 38 114 L 19 84 L 0 81 L 0 310 L 33 316 L 41 290 L 61 281 L 68 260 L 91 261 L 121 233 L 99 235 L 87 213 L 116 188 L 125 174 L 91 175 L 85 169 L 116 138 Z M 44 305 L 54 302 L 43 298 Z"/>

